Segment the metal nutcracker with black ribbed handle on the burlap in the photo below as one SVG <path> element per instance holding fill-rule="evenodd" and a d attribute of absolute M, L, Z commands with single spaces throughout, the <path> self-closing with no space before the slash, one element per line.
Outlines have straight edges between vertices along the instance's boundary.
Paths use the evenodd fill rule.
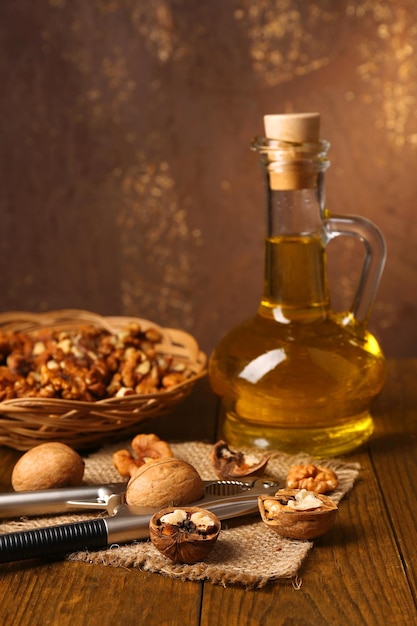
<path fill-rule="evenodd" d="M 273 494 L 271 480 L 212 480 L 204 482 L 204 497 L 189 506 L 211 511 L 220 520 L 258 511 L 258 496 Z M 102 510 L 106 517 L 0 534 L 0 563 L 77 550 L 97 550 L 149 536 L 149 521 L 158 509 L 133 507 L 125 502 L 126 483 L 65 487 L 0 494 L 0 518 Z"/>

